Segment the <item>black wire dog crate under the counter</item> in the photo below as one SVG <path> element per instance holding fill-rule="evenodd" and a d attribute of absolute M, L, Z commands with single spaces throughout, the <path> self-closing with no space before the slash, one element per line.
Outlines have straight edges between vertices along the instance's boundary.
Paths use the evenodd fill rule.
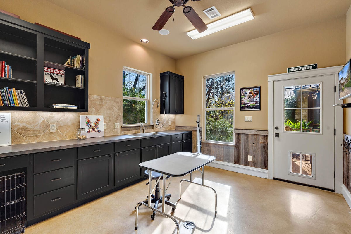
<path fill-rule="evenodd" d="M 20 234 L 26 228 L 25 172 L 0 177 L 0 234 Z"/>

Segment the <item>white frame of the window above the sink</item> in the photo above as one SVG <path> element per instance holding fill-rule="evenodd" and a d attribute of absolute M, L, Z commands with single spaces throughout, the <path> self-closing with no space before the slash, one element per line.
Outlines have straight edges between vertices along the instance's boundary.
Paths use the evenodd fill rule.
<path fill-rule="evenodd" d="M 130 67 L 125 67 L 123 66 L 122 72 L 127 71 L 127 72 L 132 72 L 135 74 L 139 75 L 145 75 L 146 76 L 146 82 L 145 82 L 145 98 L 136 98 L 136 97 L 130 97 L 130 96 L 122 96 L 123 100 L 137 100 L 137 101 L 145 101 L 145 123 L 143 124 L 148 124 L 149 121 L 149 113 L 148 113 L 148 105 L 149 105 L 149 82 L 151 79 L 152 74 L 144 71 L 140 71 L 134 68 Z M 122 95 L 123 95 L 123 85 L 122 85 Z M 123 110 L 123 102 L 122 102 L 122 110 Z M 123 123 L 123 115 L 122 115 L 122 123 Z M 122 124 L 122 126 L 139 126 L 141 123 L 128 123 L 128 124 Z"/>

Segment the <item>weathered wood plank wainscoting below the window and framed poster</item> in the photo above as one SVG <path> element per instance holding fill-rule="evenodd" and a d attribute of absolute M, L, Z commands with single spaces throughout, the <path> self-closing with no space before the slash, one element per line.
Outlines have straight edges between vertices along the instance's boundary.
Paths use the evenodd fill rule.
<path fill-rule="evenodd" d="M 176 126 L 179 130 L 193 131 L 193 152 L 197 150 L 196 127 Z M 242 166 L 267 169 L 268 167 L 268 131 L 253 129 L 234 129 L 234 145 L 210 142 L 201 143 L 203 154 L 216 156 L 216 161 L 234 163 Z M 248 160 L 252 155 L 252 161 Z"/>

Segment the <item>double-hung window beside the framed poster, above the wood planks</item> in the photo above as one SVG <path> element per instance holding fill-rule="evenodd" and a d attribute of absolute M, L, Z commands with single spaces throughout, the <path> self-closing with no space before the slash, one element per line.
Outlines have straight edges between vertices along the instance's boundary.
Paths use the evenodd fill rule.
<path fill-rule="evenodd" d="M 234 143 L 234 72 L 205 76 L 205 141 Z"/>

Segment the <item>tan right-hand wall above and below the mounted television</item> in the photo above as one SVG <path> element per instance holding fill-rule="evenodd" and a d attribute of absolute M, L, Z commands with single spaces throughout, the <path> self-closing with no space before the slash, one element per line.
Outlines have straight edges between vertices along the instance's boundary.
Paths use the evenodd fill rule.
<path fill-rule="evenodd" d="M 346 59 L 351 58 L 351 6 L 346 14 Z M 350 103 L 351 98 L 345 99 L 344 103 Z M 351 134 L 351 108 L 344 108 L 344 133 Z"/>

